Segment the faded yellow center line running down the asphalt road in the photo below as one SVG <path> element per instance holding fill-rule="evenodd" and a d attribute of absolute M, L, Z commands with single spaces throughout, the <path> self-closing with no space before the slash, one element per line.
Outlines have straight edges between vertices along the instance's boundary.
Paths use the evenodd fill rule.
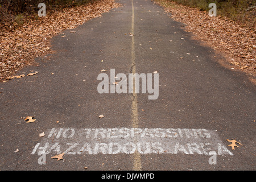
<path fill-rule="evenodd" d="M 132 18 L 131 18 L 131 72 L 136 73 L 135 67 L 135 50 L 134 50 L 134 6 L 133 0 L 131 0 L 131 7 L 132 7 Z M 131 103 L 131 120 L 133 123 L 133 127 L 138 127 L 138 107 L 137 107 L 137 93 L 135 92 L 135 80 L 133 80 L 133 102 Z M 135 139 L 136 140 L 136 139 Z M 135 141 L 137 143 L 137 141 Z M 133 161 L 133 170 L 134 171 L 141 171 L 141 155 L 136 150 L 133 154 L 134 161 Z"/>

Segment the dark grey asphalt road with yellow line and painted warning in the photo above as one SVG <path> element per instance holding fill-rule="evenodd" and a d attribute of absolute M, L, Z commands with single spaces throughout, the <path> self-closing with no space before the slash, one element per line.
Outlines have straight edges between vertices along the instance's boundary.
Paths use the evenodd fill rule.
<path fill-rule="evenodd" d="M 19 71 L 36 75 L 0 84 L 0 169 L 255 170 L 255 85 L 222 67 L 223 58 L 162 7 L 120 2 L 56 35 L 54 54 Z M 97 89 L 101 73 L 110 90 L 117 73 L 144 74 L 148 84 L 148 73 L 154 82 L 156 72 L 153 100 L 148 85 L 146 93 Z M 27 123 L 27 116 L 36 121 Z M 226 139 L 242 145 L 232 150 Z M 51 159 L 63 152 L 63 160 Z"/>

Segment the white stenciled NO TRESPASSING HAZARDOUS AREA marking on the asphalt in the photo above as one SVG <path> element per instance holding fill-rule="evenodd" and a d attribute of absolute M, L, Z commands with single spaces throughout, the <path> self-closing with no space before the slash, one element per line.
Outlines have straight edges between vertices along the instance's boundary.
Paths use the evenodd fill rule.
<path fill-rule="evenodd" d="M 199 154 L 233 155 L 216 131 L 206 129 L 53 128 L 31 154 Z"/>

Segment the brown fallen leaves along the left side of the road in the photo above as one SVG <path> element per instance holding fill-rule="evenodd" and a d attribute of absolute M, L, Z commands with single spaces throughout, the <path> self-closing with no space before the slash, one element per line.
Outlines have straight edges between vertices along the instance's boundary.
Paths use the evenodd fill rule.
<path fill-rule="evenodd" d="M 76 28 L 119 6 L 114 0 L 100 0 L 55 11 L 45 17 L 25 16 L 23 25 L 15 28 L 0 24 L 0 81 L 16 78 L 13 77 L 15 72 L 34 64 L 35 57 L 51 53 L 49 40 L 54 35 Z"/>

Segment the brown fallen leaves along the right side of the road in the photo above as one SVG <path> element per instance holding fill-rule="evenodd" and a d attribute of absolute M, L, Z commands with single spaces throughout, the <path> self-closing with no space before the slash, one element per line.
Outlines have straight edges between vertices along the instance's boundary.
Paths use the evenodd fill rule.
<path fill-rule="evenodd" d="M 171 18 L 186 24 L 185 31 L 192 32 L 193 38 L 203 40 L 216 51 L 225 53 L 226 63 L 236 63 L 233 69 L 255 76 L 255 26 L 244 27 L 219 15 L 210 17 L 208 11 L 200 11 L 172 1 L 154 0 L 154 2 L 170 12 Z"/>

